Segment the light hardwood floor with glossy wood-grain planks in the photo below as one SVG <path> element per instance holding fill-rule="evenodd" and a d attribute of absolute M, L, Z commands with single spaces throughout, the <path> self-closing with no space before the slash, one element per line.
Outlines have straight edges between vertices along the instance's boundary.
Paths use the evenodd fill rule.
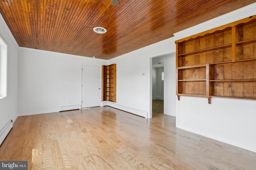
<path fill-rule="evenodd" d="M 34 170 L 255 170 L 256 153 L 175 127 L 175 117 L 145 119 L 112 107 L 21 116 L 0 160 Z"/>

